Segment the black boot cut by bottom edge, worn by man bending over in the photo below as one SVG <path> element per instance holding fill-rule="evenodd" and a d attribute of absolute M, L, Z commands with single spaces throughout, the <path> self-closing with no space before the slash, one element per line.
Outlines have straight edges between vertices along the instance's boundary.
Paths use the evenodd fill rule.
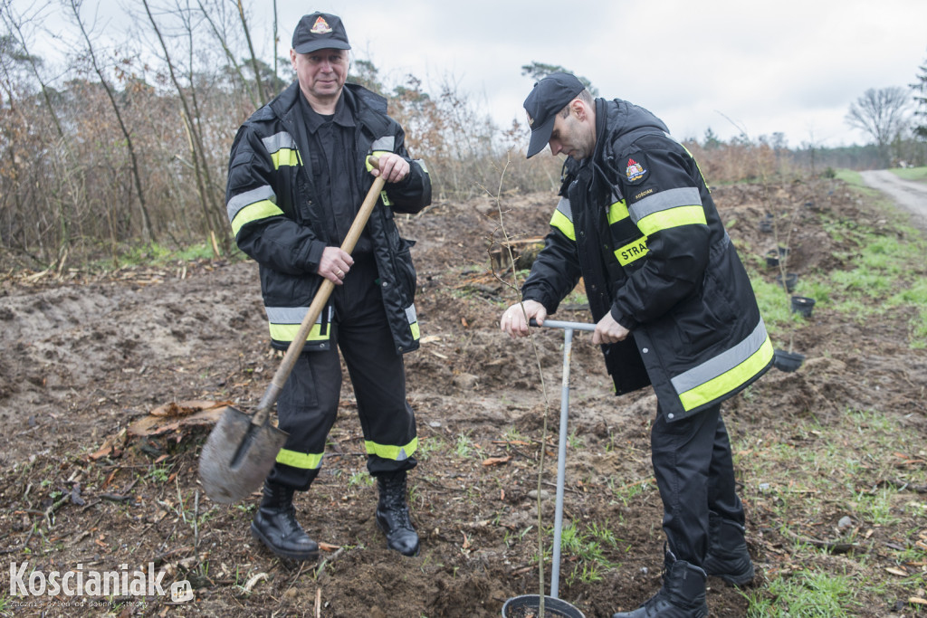
<path fill-rule="evenodd" d="M 633 612 L 612 614 L 612 618 L 707 618 L 705 571 L 686 561 L 678 561 L 667 551 L 667 570 L 663 587 Z"/>

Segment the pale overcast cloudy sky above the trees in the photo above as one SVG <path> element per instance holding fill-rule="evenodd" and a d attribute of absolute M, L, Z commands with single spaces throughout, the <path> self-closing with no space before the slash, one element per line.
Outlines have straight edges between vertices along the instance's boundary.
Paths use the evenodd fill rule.
<path fill-rule="evenodd" d="M 84 10 L 98 5 L 105 18 L 126 1 L 84 0 Z M 649 108 L 679 139 L 701 141 L 710 127 L 725 140 L 783 132 L 792 147 L 864 144 L 870 139 L 844 121 L 850 104 L 869 88 L 907 88 L 927 63 L 927 0 L 276 4 L 279 55 L 288 54 L 303 14 L 333 12 L 355 57 L 373 61 L 385 82 L 412 73 L 433 94 L 456 83 L 503 127 L 524 120 L 533 82 L 521 67 L 536 61 L 573 70 L 601 96 Z M 270 57 L 271 0 L 246 6 L 258 53 Z M 114 38 L 120 24 L 109 23 Z"/>

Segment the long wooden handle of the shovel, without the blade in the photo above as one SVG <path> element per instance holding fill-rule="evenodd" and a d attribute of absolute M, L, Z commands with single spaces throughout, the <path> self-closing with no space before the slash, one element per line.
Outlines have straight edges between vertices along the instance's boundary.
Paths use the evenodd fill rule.
<path fill-rule="evenodd" d="M 376 167 L 377 160 L 375 157 L 371 157 L 370 162 Z M 370 219 L 370 214 L 374 211 L 376 200 L 380 196 L 380 192 L 383 191 L 384 183 L 386 183 L 386 181 L 384 181 L 383 176 L 377 176 L 374 179 L 374 184 L 370 187 L 370 191 L 367 192 L 367 196 L 364 198 L 363 204 L 361 205 L 360 212 L 357 213 L 357 217 L 355 217 L 354 222 L 351 223 L 348 235 L 345 237 L 344 243 L 341 244 L 341 250 L 345 253 L 350 253 L 354 250 L 354 246 L 357 245 L 363 228 L 367 224 L 367 220 Z M 276 403 L 277 397 L 280 397 L 280 391 L 283 390 L 286 384 L 286 378 L 288 378 L 290 372 L 293 371 L 296 359 L 298 359 L 299 354 L 302 352 L 302 348 L 306 345 L 306 337 L 309 336 L 312 325 L 315 324 L 315 321 L 319 318 L 319 314 L 322 313 L 325 303 L 328 302 L 328 296 L 332 295 L 332 290 L 334 289 L 335 284 L 327 279 L 322 281 L 322 285 L 319 286 L 318 291 L 312 298 L 312 303 L 309 306 L 309 311 L 306 312 L 306 317 L 303 318 L 302 323 L 299 324 L 299 330 L 296 336 L 293 337 L 293 341 L 291 341 L 289 347 L 286 348 L 286 355 L 284 355 L 280 367 L 278 367 L 277 372 L 273 374 L 271 384 L 268 385 L 267 390 L 264 392 L 264 396 L 260 397 L 258 411 L 256 411 L 251 418 L 251 423 L 256 425 L 267 423 L 267 417 L 270 415 L 271 408 L 273 408 L 273 404 Z"/>

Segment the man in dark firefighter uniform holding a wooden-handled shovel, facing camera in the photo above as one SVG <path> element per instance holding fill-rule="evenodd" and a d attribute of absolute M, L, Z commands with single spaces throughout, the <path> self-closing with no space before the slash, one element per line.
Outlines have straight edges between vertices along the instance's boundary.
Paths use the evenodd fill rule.
<path fill-rule="evenodd" d="M 290 50 L 297 80 L 239 129 L 226 190 L 235 242 L 260 265 L 273 347 L 289 347 L 322 282 L 335 284 L 280 391 L 279 426 L 288 437 L 251 523 L 273 553 L 295 560 L 318 554 L 293 496 L 318 475 L 335 423 L 339 348 L 379 487 L 376 523 L 390 549 L 410 556 L 419 549 L 406 503 L 417 438 L 402 361 L 419 345 L 415 271 L 393 212 L 425 208 L 431 183 L 425 166 L 409 158 L 386 100 L 345 83 L 349 49 L 337 16 L 299 20 Z M 375 176 L 386 189 L 349 255 L 340 247 Z"/>

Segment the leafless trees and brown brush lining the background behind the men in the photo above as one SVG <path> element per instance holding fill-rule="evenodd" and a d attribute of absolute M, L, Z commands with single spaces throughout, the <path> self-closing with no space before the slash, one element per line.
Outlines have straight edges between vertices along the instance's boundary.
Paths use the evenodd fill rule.
<path fill-rule="evenodd" d="M 60 4 L 83 42 L 63 70 L 34 43 L 41 6 L 15 15 L 0 0 L 0 268 L 61 272 L 138 246 L 228 254 L 228 152 L 241 122 L 293 79 L 288 58 L 256 55 L 241 3 L 142 0 L 135 27 L 153 45 L 144 56 L 138 46 L 97 44 L 81 2 Z M 538 77 L 561 68 L 524 69 Z M 430 170 L 437 202 L 558 185 L 561 160 L 527 161 L 527 126 L 497 126 L 452 77 L 427 87 L 414 75 L 387 82 L 354 57 L 349 81 L 387 96 L 410 151 Z M 886 108 L 859 109 L 865 120 Z M 924 136 L 892 131 L 840 148 L 789 148 L 779 133 L 725 142 L 710 130 L 685 143 L 713 184 L 923 165 Z"/>

